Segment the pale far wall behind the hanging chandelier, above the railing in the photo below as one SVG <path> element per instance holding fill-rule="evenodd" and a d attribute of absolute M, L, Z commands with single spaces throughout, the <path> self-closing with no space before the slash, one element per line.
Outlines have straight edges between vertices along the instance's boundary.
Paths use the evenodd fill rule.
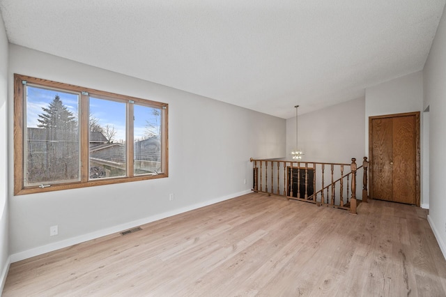
<path fill-rule="evenodd" d="M 362 162 L 364 157 L 364 98 L 298 116 L 302 160 L 310 162 Z M 286 159 L 295 147 L 295 117 L 286 121 Z"/>

